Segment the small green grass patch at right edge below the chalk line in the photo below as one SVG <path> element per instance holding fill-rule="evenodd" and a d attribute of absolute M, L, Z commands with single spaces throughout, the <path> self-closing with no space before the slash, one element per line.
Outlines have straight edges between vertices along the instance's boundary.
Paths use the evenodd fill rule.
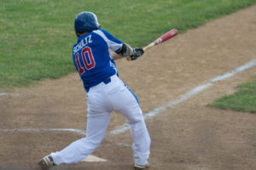
<path fill-rule="evenodd" d="M 212 106 L 235 111 L 256 113 L 256 79 L 238 86 L 239 90 L 232 95 L 215 100 Z"/>

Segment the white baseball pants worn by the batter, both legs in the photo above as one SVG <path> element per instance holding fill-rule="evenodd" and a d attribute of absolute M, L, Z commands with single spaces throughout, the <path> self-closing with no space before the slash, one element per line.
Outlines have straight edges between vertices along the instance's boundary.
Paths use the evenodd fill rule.
<path fill-rule="evenodd" d="M 149 157 L 151 141 L 144 122 L 143 111 L 136 96 L 125 86 L 125 83 L 114 75 L 108 84 L 101 82 L 90 88 L 87 99 L 86 137 L 76 140 L 61 151 L 51 153 L 55 164 L 76 163 L 89 156 L 102 142 L 108 128 L 111 111 L 116 111 L 126 117 L 131 127 L 135 163 L 145 165 Z"/>

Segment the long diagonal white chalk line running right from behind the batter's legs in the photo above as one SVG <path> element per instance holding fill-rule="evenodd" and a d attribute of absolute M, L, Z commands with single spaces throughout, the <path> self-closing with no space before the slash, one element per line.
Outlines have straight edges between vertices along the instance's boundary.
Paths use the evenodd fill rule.
<path fill-rule="evenodd" d="M 256 59 L 253 59 L 252 61 L 248 62 L 247 64 L 241 65 L 241 66 L 237 67 L 236 69 L 225 73 L 222 76 L 214 77 L 214 78 L 210 79 L 207 83 L 202 84 L 200 86 L 197 86 L 197 87 L 189 90 L 189 92 L 187 92 L 186 94 L 183 94 L 183 96 L 181 98 L 170 101 L 170 102 L 166 103 L 166 105 L 161 105 L 160 107 L 157 107 L 152 111 L 149 111 L 148 113 L 146 113 L 144 115 L 144 119 L 146 120 L 148 118 L 157 116 L 160 114 L 160 112 L 165 111 L 166 109 L 168 109 L 174 105 L 183 103 L 184 101 L 194 97 L 195 95 L 200 94 L 207 88 L 210 88 L 214 82 L 223 81 L 227 78 L 233 77 L 236 74 L 241 73 L 242 71 L 246 71 L 247 69 L 252 68 L 255 65 L 256 65 Z M 125 124 L 121 125 L 120 127 L 118 127 L 117 129 L 110 131 L 110 134 L 124 133 L 128 129 L 130 129 L 129 125 L 127 123 L 125 123 Z"/>

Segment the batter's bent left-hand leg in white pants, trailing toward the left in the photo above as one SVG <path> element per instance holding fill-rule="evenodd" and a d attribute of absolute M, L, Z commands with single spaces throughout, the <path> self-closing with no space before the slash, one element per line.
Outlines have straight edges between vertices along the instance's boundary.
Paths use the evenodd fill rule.
<path fill-rule="evenodd" d="M 86 137 L 73 142 L 61 151 L 52 153 L 51 156 L 56 165 L 79 162 L 89 156 L 102 142 L 111 117 L 110 111 L 105 109 L 108 106 L 106 104 L 108 99 L 101 91 L 89 92 L 87 99 Z"/>

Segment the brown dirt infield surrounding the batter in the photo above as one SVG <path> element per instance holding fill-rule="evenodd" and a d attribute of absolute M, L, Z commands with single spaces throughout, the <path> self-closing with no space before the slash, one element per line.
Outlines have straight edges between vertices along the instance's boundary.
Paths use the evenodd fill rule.
<path fill-rule="evenodd" d="M 256 59 L 256 6 L 213 20 L 150 48 L 134 62 L 117 61 L 120 77 L 137 94 L 143 112 L 179 99 L 213 77 Z M 160 115 L 147 119 L 152 170 L 256 169 L 256 115 L 208 106 L 256 76 L 256 67 L 226 80 Z M 86 100 L 77 73 L 32 88 L 0 89 L 0 169 L 39 169 L 37 161 L 83 134 L 32 129 L 85 130 Z M 93 153 L 107 162 L 82 162 L 54 169 L 132 169 L 130 132 L 110 134 L 125 123 L 113 113 L 108 133 Z M 3 129 L 27 129 L 3 132 Z"/>

